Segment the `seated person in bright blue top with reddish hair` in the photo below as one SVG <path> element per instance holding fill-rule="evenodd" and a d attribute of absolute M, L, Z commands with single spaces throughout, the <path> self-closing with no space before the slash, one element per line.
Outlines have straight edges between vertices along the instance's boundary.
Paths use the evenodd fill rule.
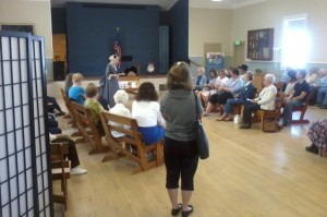
<path fill-rule="evenodd" d="M 73 86 L 69 91 L 69 98 L 77 104 L 84 105 L 85 91 L 82 87 L 83 75 L 80 73 L 73 74 Z"/>

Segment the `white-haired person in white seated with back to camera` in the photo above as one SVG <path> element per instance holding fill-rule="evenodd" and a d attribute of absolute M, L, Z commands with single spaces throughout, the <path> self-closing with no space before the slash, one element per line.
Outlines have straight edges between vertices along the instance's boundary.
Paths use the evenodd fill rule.
<path fill-rule="evenodd" d="M 131 112 L 125 107 L 126 103 L 129 101 L 128 93 L 124 89 L 118 89 L 113 95 L 113 100 L 116 105 L 109 110 L 109 112 L 113 114 L 131 118 Z M 111 124 L 122 126 L 119 123 L 114 123 L 114 122 Z M 113 137 L 124 136 L 123 133 L 117 131 L 112 131 L 111 134 Z"/>

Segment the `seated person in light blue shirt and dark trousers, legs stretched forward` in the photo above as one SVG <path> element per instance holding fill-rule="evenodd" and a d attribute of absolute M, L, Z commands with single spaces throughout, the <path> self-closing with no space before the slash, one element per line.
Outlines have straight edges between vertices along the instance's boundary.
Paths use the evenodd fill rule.
<path fill-rule="evenodd" d="M 215 104 L 218 104 L 219 106 L 226 104 L 227 99 L 233 98 L 233 95 L 238 94 L 238 92 L 243 87 L 243 82 L 239 77 L 238 69 L 230 68 L 229 74 L 231 75 L 231 77 L 228 80 L 226 85 L 220 86 L 218 88 L 218 92 L 209 97 L 207 108 L 203 116 L 207 116 L 209 112 L 211 112 Z"/>

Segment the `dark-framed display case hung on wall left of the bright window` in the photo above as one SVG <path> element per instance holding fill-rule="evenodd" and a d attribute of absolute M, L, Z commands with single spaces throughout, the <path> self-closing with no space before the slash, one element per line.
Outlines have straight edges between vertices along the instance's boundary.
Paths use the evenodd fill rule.
<path fill-rule="evenodd" d="M 247 32 L 247 58 L 251 60 L 272 60 L 274 28 Z"/>

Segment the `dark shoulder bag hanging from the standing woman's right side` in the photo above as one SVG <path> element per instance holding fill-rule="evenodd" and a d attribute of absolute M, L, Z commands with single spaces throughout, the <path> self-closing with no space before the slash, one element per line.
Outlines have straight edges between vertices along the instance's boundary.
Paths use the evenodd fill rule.
<path fill-rule="evenodd" d="M 199 158 L 206 159 L 209 157 L 209 142 L 202 125 L 201 113 L 198 112 L 197 97 L 195 94 L 194 94 L 194 99 L 195 99 L 195 113 L 196 113 L 195 124 L 196 124 L 196 133 L 197 133 L 196 146 L 197 146 Z"/>

